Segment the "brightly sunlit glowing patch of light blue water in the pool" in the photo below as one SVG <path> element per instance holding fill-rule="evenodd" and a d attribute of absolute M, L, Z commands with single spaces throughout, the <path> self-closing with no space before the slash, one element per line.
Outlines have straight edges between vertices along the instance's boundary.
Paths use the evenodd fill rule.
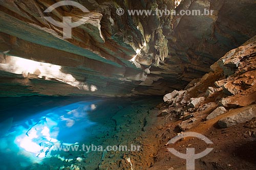
<path fill-rule="evenodd" d="M 54 156 L 51 155 L 54 147 L 78 144 L 82 138 L 90 136 L 90 130 L 87 129 L 96 123 L 89 120 L 88 113 L 96 108 L 97 104 L 77 102 L 37 113 L 13 123 L 15 126 L 4 139 L 12 140 L 15 134 L 13 143 L 9 143 L 8 147 L 15 148 L 16 144 L 19 149 L 13 150 L 12 154 L 16 151 L 17 155 L 39 163 L 43 158 Z M 0 148 L 4 149 L 3 145 Z M 58 155 L 56 157 L 62 159 Z"/>

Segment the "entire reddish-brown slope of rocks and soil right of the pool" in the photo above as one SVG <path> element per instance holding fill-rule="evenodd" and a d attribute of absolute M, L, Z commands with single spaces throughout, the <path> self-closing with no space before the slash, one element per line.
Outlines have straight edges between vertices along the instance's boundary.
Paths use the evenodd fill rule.
<path fill-rule="evenodd" d="M 200 153 L 209 146 L 214 151 L 200 158 L 200 161 L 195 161 L 195 169 L 255 169 L 255 38 L 226 53 L 211 65 L 211 72 L 189 83 L 181 100 L 189 101 L 204 96 L 205 100 L 198 106 L 190 108 L 188 103 L 184 103 L 174 107 L 168 102 L 162 105 L 161 110 L 168 108 L 170 114 L 159 117 L 165 124 L 158 130 L 158 134 L 161 134 L 157 138 L 160 147 L 150 170 L 186 169 L 184 159 L 167 152 L 169 148 L 175 148 L 181 153 L 187 148 L 195 148 Z M 229 64 L 223 65 L 224 60 L 229 60 Z M 226 70 L 232 72 L 226 74 Z M 217 112 L 220 109 L 218 107 L 223 105 L 228 110 L 226 113 L 215 114 L 215 118 L 207 120 L 207 116 L 211 117 L 212 112 Z M 235 126 L 222 129 L 218 122 L 221 127 Z M 181 131 L 203 134 L 214 144 L 209 145 L 202 139 L 190 137 L 168 144 L 170 139 L 182 134 Z"/>

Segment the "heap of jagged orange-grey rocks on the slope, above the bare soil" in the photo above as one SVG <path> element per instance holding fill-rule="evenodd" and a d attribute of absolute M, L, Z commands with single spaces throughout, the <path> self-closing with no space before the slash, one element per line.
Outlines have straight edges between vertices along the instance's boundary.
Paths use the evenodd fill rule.
<path fill-rule="evenodd" d="M 209 74 L 194 82 L 194 86 L 166 94 L 169 95 L 167 102 L 174 102 L 179 93 L 182 93 L 179 101 L 186 101 L 183 104 L 169 106 L 174 117 L 179 118 L 179 121 L 184 120 L 178 124 L 182 131 L 196 127 L 204 120 L 218 119 L 233 111 L 234 115 L 220 120 L 221 127 L 245 123 L 255 116 L 255 105 L 252 105 L 256 102 L 255 54 L 256 40 L 252 38 L 226 53 L 211 66 L 212 71 Z M 229 64 L 223 65 L 223 61 L 229 61 Z M 235 64 L 236 67 L 231 64 L 232 62 L 238 63 Z M 226 75 L 225 69 L 228 67 L 233 69 L 233 73 Z M 236 112 L 238 107 L 242 108 Z M 162 108 L 164 109 L 166 108 Z"/>

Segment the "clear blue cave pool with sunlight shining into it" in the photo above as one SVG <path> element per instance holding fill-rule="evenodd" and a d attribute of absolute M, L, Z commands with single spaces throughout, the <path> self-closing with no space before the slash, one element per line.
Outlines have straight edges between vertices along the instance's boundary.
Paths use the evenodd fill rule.
<path fill-rule="evenodd" d="M 141 133 L 146 110 L 157 102 L 92 97 L 1 98 L 0 169 L 75 169 L 82 164 L 80 169 L 96 169 L 102 153 L 56 151 L 56 147 L 105 147 L 132 141 Z"/>

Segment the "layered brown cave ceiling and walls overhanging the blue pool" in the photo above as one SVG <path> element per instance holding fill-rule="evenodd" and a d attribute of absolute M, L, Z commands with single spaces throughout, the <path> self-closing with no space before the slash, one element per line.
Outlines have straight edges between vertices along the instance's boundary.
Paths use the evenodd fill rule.
<path fill-rule="evenodd" d="M 40 77 L 37 69 L 26 76 L 1 68 L 0 96 L 166 94 L 201 78 L 227 51 L 256 34 L 253 0 L 184 0 L 177 13 L 209 9 L 214 15 L 162 17 L 130 16 L 127 10 L 172 10 L 175 1 L 80 0 L 76 2 L 90 13 L 72 6 L 44 13 L 55 2 L 1 1 L 0 53 L 4 58 L 16 56 L 61 66 L 59 70 L 71 75 L 73 83 L 56 76 Z M 124 15 L 116 14 L 118 8 L 125 10 Z M 58 21 L 62 16 L 86 17 L 86 21 L 72 29 L 72 39 L 63 39 L 62 29 L 43 16 Z M 1 59 L 1 63 L 6 62 Z"/>

